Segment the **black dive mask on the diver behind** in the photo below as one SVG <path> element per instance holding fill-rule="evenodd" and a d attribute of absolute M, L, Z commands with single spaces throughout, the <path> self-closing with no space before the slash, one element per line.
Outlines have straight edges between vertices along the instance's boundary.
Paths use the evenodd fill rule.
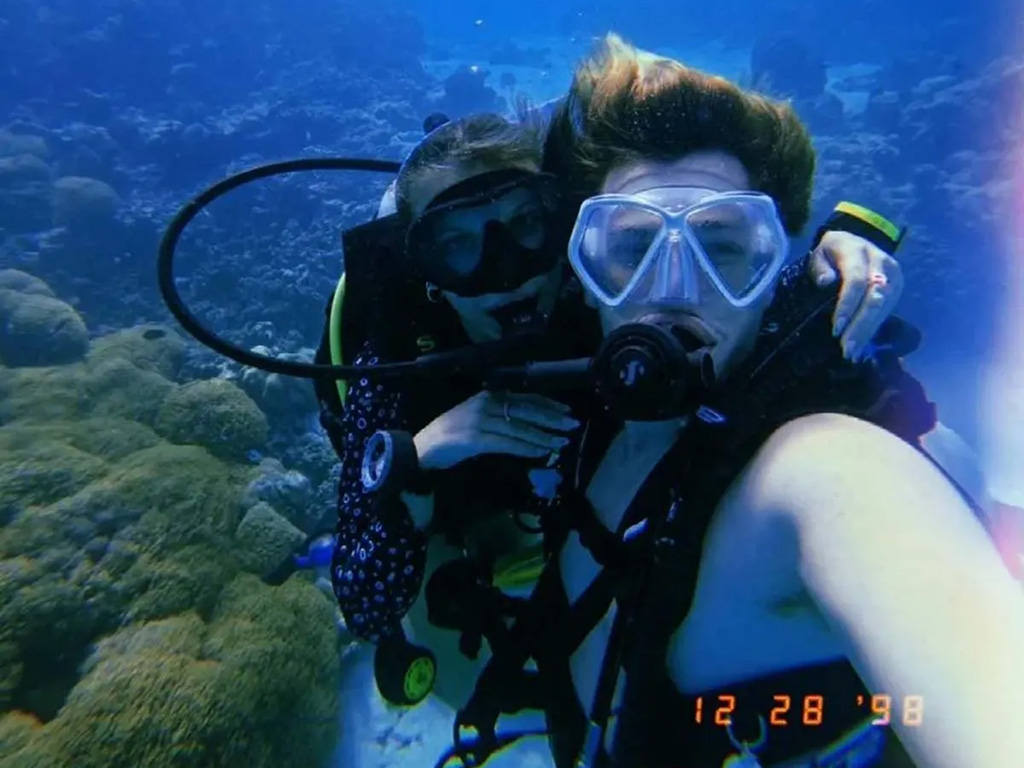
<path fill-rule="evenodd" d="M 459 296 L 507 293 L 553 269 L 554 176 L 506 169 L 434 198 L 412 223 L 406 252 L 429 283 Z"/>

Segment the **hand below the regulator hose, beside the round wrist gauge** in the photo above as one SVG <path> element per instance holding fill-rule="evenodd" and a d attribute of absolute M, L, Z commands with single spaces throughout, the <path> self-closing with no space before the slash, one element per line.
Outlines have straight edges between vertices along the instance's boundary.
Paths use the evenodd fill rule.
<path fill-rule="evenodd" d="M 482 454 L 540 459 L 568 444 L 564 433 L 579 425 L 567 406 L 543 395 L 484 390 L 438 416 L 414 442 L 422 469 L 450 469 Z"/>

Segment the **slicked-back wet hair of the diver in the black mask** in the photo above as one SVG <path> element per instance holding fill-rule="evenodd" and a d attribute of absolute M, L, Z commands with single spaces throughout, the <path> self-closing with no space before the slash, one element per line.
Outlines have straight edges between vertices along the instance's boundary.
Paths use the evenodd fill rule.
<path fill-rule="evenodd" d="M 471 115 L 440 125 L 429 133 L 402 164 L 395 185 L 398 214 L 412 218 L 409 198 L 423 174 L 461 165 L 502 170 L 523 163 L 541 165 L 544 127 L 520 106 L 516 122 L 500 115 Z"/>

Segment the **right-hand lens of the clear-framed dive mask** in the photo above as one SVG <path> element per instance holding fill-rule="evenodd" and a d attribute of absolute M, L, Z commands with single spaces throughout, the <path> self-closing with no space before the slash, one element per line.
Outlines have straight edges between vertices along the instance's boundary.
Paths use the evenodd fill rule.
<path fill-rule="evenodd" d="M 784 237 L 770 204 L 717 202 L 689 214 L 686 223 L 708 266 L 735 299 L 771 280 L 785 255 Z"/>

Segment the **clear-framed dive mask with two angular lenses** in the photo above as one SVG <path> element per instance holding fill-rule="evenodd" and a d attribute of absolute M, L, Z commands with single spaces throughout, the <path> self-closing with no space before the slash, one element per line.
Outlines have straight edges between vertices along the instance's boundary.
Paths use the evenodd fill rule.
<path fill-rule="evenodd" d="M 693 306 L 710 290 L 738 308 L 775 282 L 788 244 L 767 195 L 660 186 L 587 200 L 568 256 L 584 287 L 609 307 Z"/>

